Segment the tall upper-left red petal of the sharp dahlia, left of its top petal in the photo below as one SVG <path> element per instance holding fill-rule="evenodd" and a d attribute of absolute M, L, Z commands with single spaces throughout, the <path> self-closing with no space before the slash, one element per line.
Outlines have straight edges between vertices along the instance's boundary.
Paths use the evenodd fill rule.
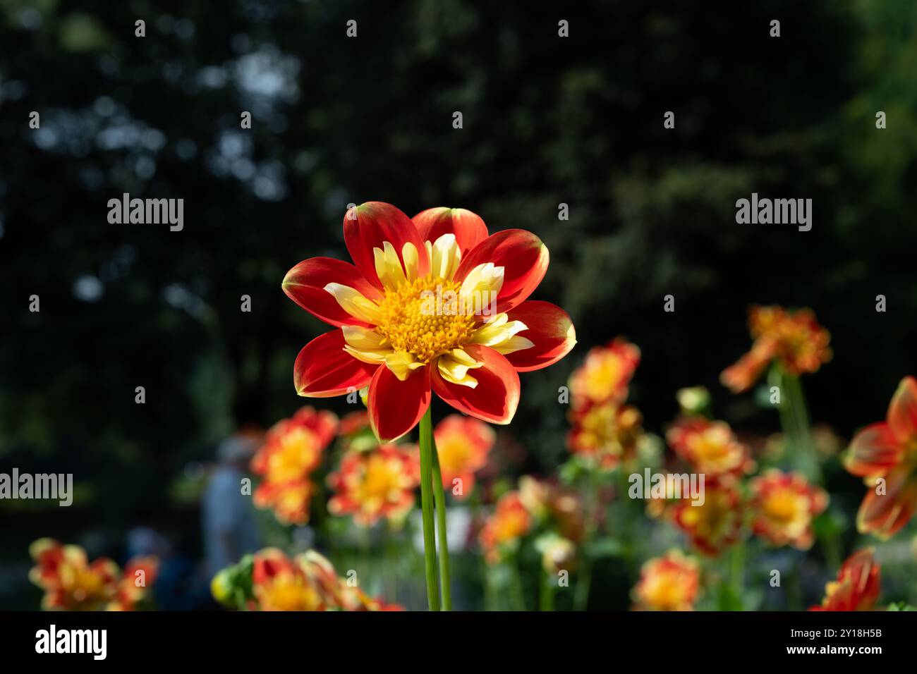
<path fill-rule="evenodd" d="M 376 288 L 381 288 L 382 284 L 376 275 L 376 260 L 372 249 L 382 249 L 383 241 L 394 246 L 402 267 L 402 249 L 410 241 L 417 249 L 418 273 L 423 276 L 430 271 L 430 260 L 422 254 L 425 250 L 424 239 L 420 238 L 410 218 L 392 204 L 370 201 L 349 209 L 344 215 L 344 241 L 357 269 Z"/>

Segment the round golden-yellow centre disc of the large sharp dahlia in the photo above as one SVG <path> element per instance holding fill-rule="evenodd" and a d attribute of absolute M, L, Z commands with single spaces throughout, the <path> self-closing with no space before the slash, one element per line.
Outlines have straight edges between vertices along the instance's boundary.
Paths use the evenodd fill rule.
<path fill-rule="evenodd" d="M 464 345 L 475 328 L 474 307 L 459 297 L 461 283 L 427 274 L 397 288 L 386 288 L 376 330 L 395 351 L 429 362 Z"/>

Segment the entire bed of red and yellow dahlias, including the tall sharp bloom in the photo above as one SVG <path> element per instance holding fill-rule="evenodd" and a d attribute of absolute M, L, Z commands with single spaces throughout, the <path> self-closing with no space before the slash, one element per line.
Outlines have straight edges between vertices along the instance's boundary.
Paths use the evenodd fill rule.
<path fill-rule="evenodd" d="M 353 264 L 304 260 L 282 282 L 331 329 L 291 364 L 296 392 L 315 400 L 278 420 L 251 461 L 251 500 L 276 521 L 275 544 L 215 576 L 227 608 L 910 610 L 907 372 L 886 409 L 864 409 L 849 440 L 834 436 L 810 419 L 803 380 L 849 356 L 832 352 L 812 311 L 753 306 L 748 351 L 724 362 L 721 381 L 772 409 L 781 432 L 733 427 L 702 387 L 654 392 L 680 414 L 647 428 L 629 395 L 639 345 L 610 335 L 574 350 L 569 315 L 529 299 L 548 267 L 534 235 L 490 235 L 460 209 L 412 219 L 380 203 L 349 210 L 344 235 Z M 457 310 L 422 308 L 443 289 Z M 481 296 L 493 311 L 464 302 Z M 562 358 L 577 363 L 558 397 L 566 460 L 551 474 L 502 474 L 494 457 L 514 446 L 520 373 Z M 336 395 L 357 411 L 323 409 Z M 863 481 L 856 513 L 825 490 L 842 471 Z M 46 608 L 149 606 L 154 559 L 122 571 L 49 539 L 31 552 Z"/>

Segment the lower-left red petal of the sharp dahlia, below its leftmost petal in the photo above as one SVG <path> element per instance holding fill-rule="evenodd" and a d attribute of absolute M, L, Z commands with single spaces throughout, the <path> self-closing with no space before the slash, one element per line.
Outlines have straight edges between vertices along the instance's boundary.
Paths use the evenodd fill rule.
<path fill-rule="evenodd" d="M 332 330 L 303 347 L 293 364 L 296 392 L 310 398 L 328 398 L 370 383 L 379 365 L 364 363 L 344 350 L 344 333 Z"/>

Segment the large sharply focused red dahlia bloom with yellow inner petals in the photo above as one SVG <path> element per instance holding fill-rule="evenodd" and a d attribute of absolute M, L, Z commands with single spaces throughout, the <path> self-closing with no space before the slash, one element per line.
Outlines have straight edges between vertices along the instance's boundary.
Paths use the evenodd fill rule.
<path fill-rule="evenodd" d="M 414 428 L 432 392 L 459 412 L 508 424 L 520 371 L 563 358 L 576 343 L 569 315 L 526 298 L 547 271 L 534 234 L 488 236 L 480 216 L 431 208 L 413 220 L 368 202 L 344 216 L 354 264 L 300 262 L 283 291 L 335 330 L 296 358 L 300 395 L 370 387 L 370 425 L 383 442 Z"/>

